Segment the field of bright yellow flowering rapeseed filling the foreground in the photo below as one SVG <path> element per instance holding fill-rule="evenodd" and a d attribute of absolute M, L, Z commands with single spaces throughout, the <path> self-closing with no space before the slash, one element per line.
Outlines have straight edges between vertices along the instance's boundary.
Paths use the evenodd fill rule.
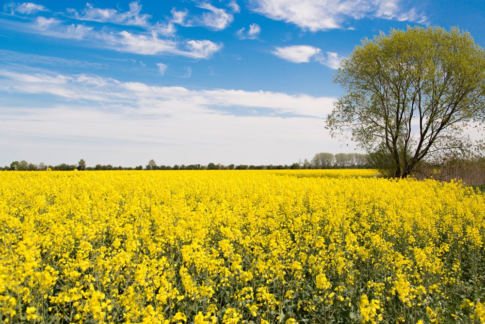
<path fill-rule="evenodd" d="M 485 195 L 372 174 L 0 172 L 0 320 L 485 323 Z"/>

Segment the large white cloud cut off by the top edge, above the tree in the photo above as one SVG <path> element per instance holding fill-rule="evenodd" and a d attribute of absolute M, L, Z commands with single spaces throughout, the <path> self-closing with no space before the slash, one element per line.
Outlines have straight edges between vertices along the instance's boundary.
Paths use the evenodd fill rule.
<path fill-rule="evenodd" d="M 423 23 L 414 8 L 404 10 L 399 0 L 250 0 L 254 12 L 293 23 L 311 32 L 345 27 L 349 18 L 379 17 Z"/>

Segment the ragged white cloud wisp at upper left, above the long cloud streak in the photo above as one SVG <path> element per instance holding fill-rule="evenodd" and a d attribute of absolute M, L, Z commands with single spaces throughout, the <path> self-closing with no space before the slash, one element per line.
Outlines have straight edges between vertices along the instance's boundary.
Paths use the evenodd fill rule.
<path fill-rule="evenodd" d="M 96 8 L 91 3 L 86 3 L 86 7 L 78 12 L 75 9 L 68 8 L 67 11 L 72 14 L 73 18 L 79 20 L 90 20 L 97 22 L 110 22 L 120 25 L 148 26 L 150 15 L 141 14 L 142 6 L 138 1 L 129 3 L 129 11 L 121 11 L 113 8 Z"/>

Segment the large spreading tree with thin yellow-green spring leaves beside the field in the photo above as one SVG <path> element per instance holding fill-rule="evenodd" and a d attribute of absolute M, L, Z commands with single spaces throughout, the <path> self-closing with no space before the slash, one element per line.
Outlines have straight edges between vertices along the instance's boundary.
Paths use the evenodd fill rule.
<path fill-rule="evenodd" d="M 405 177 L 423 159 L 484 148 L 485 51 L 467 32 L 408 27 L 364 39 L 334 82 L 345 94 L 326 120 L 387 175 Z"/>

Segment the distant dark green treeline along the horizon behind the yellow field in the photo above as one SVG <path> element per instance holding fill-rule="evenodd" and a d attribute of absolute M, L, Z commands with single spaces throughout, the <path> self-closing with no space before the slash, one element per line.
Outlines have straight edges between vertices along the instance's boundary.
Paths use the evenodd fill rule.
<path fill-rule="evenodd" d="M 317 153 L 308 161 L 298 161 L 291 165 L 246 165 L 246 164 L 215 164 L 208 165 L 190 164 L 190 165 L 157 165 L 155 160 L 150 160 L 144 167 L 142 165 L 137 167 L 115 167 L 111 164 L 101 165 L 97 164 L 94 167 L 86 167 L 86 162 L 81 159 L 78 164 L 59 164 L 56 166 L 46 165 L 45 163 L 33 164 L 27 161 L 14 161 L 10 166 L 5 166 L 4 171 L 105 171 L 105 170 L 298 170 L 298 169 L 366 169 L 369 167 L 366 154 L 360 153 Z"/>

